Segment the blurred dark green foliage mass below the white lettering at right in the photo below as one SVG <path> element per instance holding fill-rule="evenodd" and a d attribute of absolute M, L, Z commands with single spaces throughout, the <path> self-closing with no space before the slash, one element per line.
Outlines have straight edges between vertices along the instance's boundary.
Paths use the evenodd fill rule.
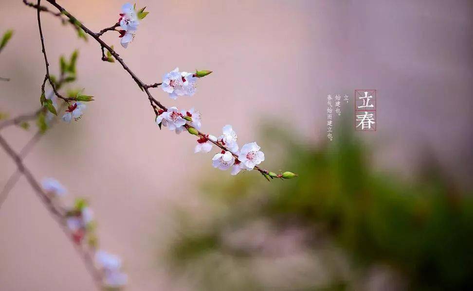
<path fill-rule="evenodd" d="M 193 218 L 182 220 L 181 235 L 169 249 L 174 270 L 185 267 L 188 272 L 194 263 L 195 269 L 218 274 L 215 261 L 203 263 L 215 254 L 236 259 L 257 256 L 229 250 L 222 237 L 232 225 L 264 218 L 276 227 L 296 222 L 311 234 L 329 238 L 357 269 L 387 264 L 405 278 L 410 290 L 473 290 L 472 196 L 455 188 L 435 163 L 426 163 L 414 182 L 406 182 L 373 170 L 370 149 L 353 136 L 351 128 L 318 146 L 271 127 L 263 136 L 267 145 L 286 143 L 278 154 L 286 159 L 280 163 L 299 177 L 272 183 L 254 173 L 209 178 L 202 192 L 223 208 L 213 207 L 205 227 L 193 223 Z M 317 247 L 314 241 L 306 241 L 309 250 Z M 233 290 L 216 287 L 232 276 L 217 277 L 218 284 L 204 284 L 202 290 Z M 236 286 L 235 290 L 243 290 Z M 289 290 L 345 290 L 350 284 L 342 280 L 327 286 Z M 265 288 L 253 282 L 245 289 Z"/>

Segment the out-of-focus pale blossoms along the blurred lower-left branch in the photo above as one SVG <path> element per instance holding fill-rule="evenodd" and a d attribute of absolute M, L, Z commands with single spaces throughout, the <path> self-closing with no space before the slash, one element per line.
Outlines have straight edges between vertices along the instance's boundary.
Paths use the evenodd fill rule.
<path fill-rule="evenodd" d="M 66 188 L 53 178 L 43 179 L 42 188 L 53 201 L 67 193 Z M 108 288 L 124 286 L 127 283 L 127 274 L 121 271 L 120 258 L 103 250 L 96 250 L 98 241 L 94 234 L 93 212 L 87 201 L 77 199 L 72 207 L 66 209 L 65 219 L 74 243 L 82 245 L 87 238 L 87 245 L 94 252 L 96 267 L 103 274 L 103 284 Z"/>

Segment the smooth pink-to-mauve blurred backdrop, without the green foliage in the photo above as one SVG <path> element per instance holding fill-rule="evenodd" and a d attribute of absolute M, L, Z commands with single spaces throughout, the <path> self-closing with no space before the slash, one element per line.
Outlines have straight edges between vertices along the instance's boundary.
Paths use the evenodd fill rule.
<path fill-rule="evenodd" d="M 93 31 L 115 23 L 123 4 L 59 3 Z M 356 134 L 370 145 L 365 149 L 371 151 L 373 171 L 414 183 L 427 155 L 438 161 L 456 188 L 471 188 L 471 1 L 137 4 L 144 5 L 150 14 L 127 50 L 116 33 L 104 39 L 146 83 L 160 82 L 176 66 L 213 70 L 199 81 L 192 98 L 174 102 L 160 88 L 152 89 L 165 105 L 200 110 L 203 131 L 218 135 L 230 123 L 241 144 L 261 140 L 263 150 L 268 149 L 268 165 L 292 170 L 286 169 L 283 154 L 269 150 L 278 139 L 265 141 L 258 124 L 269 120 L 273 126 L 287 126 L 308 147 L 324 143 L 327 94 L 348 94 L 351 100 L 343 115 L 350 117 L 354 90 L 373 88 L 378 90 L 377 132 Z M 0 109 L 15 116 L 37 108 L 44 62 L 36 11 L 20 0 L 1 0 L 0 11 L 0 32 L 15 30 L 0 55 L 0 76 L 11 78 L 0 83 Z M 38 179 L 53 176 L 71 196 L 91 201 L 102 247 L 125 261 L 127 290 L 201 290 L 192 280 L 170 275 L 162 254 L 179 232 L 177 206 L 206 216 L 208 207 L 202 206 L 198 193 L 202 181 L 218 173 L 211 167 L 212 155 L 194 154 L 193 137 L 159 131 L 146 95 L 118 64 L 100 60 L 94 41 L 78 40 L 55 17 L 42 19 L 53 72 L 57 74 L 59 55 L 79 49 L 76 86 L 85 87 L 95 101 L 79 122 L 61 122 L 48 132 L 26 158 L 27 166 Z M 34 131 L 12 127 L 1 134 L 19 149 Z M 291 149 L 284 156 L 291 159 Z M 3 152 L 0 164 L 3 186 L 15 166 Z M 227 174 L 218 177 L 234 179 Z M 255 172 L 244 175 L 261 178 Z M 347 174 L 343 179 L 353 178 Z M 203 183 L 223 189 L 218 183 Z M 284 182 L 290 183 L 295 182 Z M 0 290 L 94 288 L 73 246 L 23 178 L 1 207 L 0 246 Z"/>

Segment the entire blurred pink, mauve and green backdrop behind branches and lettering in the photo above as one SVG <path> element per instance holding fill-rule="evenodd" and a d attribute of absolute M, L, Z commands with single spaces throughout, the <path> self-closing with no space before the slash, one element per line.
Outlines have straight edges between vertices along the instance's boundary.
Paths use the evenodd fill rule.
<path fill-rule="evenodd" d="M 122 1 L 65 6 L 94 31 Z M 232 124 L 258 141 L 266 182 L 211 167 L 189 135 L 160 131 L 144 95 L 100 47 L 44 15 L 58 58 L 80 51 L 78 80 L 95 96 L 77 123 L 58 123 L 25 159 L 94 209 L 101 245 L 120 254 L 127 290 L 456 290 L 471 288 L 471 1 L 148 1 L 127 50 L 146 83 L 176 66 L 214 73 L 191 98 L 202 129 Z M 1 0 L 0 110 L 38 106 L 44 62 L 36 11 Z M 8 13 L 6 13 L 8 12 Z M 355 133 L 354 90 L 378 90 L 377 132 Z M 326 137 L 327 94 L 349 95 Z M 17 150 L 34 134 L 2 131 Z M 0 185 L 15 171 L 0 153 Z M 22 178 L 0 211 L 1 290 L 93 290 L 73 246 Z"/>

